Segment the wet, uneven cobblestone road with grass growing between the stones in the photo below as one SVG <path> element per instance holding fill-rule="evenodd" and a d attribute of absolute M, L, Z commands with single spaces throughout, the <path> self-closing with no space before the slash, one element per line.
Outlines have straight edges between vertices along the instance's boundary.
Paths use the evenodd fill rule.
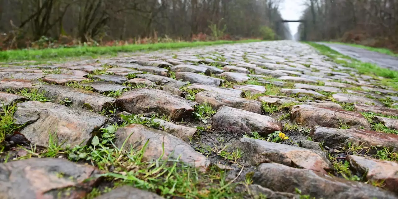
<path fill-rule="evenodd" d="M 303 43 L 10 65 L 0 80 L 0 198 L 396 198 L 398 164 L 380 159 L 396 158 L 398 91 Z"/>

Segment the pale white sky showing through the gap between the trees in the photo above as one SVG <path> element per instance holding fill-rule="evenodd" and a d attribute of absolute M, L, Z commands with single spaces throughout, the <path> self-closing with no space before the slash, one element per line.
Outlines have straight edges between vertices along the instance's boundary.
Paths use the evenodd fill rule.
<path fill-rule="evenodd" d="M 280 5 L 282 18 L 284 20 L 299 20 L 305 9 L 304 2 L 305 0 L 284 0 Z M 290 32 L 293 36 L 297 33 L 298 25 L 300 23 L 289 23 Z"/>

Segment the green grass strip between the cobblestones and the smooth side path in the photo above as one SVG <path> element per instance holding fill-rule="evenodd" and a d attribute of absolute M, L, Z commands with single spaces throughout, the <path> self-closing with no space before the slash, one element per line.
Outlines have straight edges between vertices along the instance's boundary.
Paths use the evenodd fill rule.
<path fill-rule="evenodd" d="M 322 53 L 323 55 L 326 55 L 330 57 L 331 59 L 334 60 L 334 62 L 343 64 L 343 66 L 351 67 L 351 68 L 356 68 L 359 73 L 369 75 L 369 76 L 381 76 L 384 77 L 384 79 L 381 80 L 381 83 L 384 84 L 384 86 L 390 86 L 396 90 L 398 90 L 398 71 L 396 70 L 390 70 L 387 68 L 381 68 L 377 66 L 376 64 L 372 63 L 365 63 L 365 62 L 360 62 L 358 60 L 352 59 L 348 56 L 341 55 L 337 51 L 334 51 L 330 49 L 329 47 L 322 45 L 322 44 L 317 44 L 313 42 L 306 42 L 307 44 L 311 45 L 312 47 L 315 47 Z M 349 63 L 345 60 L 339 60 L 338 58 L 344 58 L 351 60 L 352 62 Z"/>

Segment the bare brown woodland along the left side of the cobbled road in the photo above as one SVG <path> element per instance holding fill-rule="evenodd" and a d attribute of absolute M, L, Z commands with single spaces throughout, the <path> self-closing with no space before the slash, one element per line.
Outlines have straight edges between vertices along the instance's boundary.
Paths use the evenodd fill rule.
<path fill-rule="evenodd" d="M 280 0 L 0 0 L 7 42 L 72 37 L 86 42 L 137 38 L 290 37 Z M 269 27 L 267 29 L 265 27 Z M 270 31 L 271 30 L 271 31 Z M 210 38 L 209 38 L 210 37 Z M 217 38 L 214 38 L 217 37 Z M 273 39 L 273 38 L 269 38 Z"/>

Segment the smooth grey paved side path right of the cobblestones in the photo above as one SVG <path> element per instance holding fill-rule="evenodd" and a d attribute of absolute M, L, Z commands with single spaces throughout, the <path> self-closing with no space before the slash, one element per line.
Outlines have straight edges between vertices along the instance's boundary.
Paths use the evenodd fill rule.
<path fill-rule="evenodd" d="M 323 42 L 318 42 L 318 43 L 326 45 L 343 55 L 347 55 L 354 59 L 361 60 L 362 62 L 371 62 L 383 68 L 398 70 L 398 57 L 393 57 L 383 53 L 377 53 L 348 45 L 323 43 Z"/>

